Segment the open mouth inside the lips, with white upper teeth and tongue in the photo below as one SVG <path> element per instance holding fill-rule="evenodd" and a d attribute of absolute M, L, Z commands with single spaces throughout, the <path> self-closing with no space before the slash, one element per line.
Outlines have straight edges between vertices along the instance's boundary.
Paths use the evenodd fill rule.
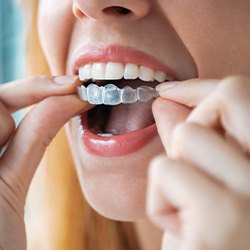
<path fill-rule="evenodd" d="M 113 84 L 122 89 L 129 86 L 133 89 L 141 86 L 154 88 L 173 77 L 165 72 L 128 63 L 96 62 L 79 68 L 79 78 L 87 86 L 95 83 L 98 86 Z M 154 117 L 151 106 L 153 100 L 119 104 L 115 106 L 97 105 L 87 115 L 87 127 L 97 136 L 113 137 L 143 130 L 153 125 Z"/>

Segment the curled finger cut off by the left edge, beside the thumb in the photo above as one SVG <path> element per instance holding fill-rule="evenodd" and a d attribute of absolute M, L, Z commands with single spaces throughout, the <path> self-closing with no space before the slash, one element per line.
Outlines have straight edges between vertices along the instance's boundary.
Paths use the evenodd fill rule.
<path fill-rule="evenodd" d="M 8 110 L 0 102 L 0 147 L 7 143 L 14 131 L 15 122 Z"/>

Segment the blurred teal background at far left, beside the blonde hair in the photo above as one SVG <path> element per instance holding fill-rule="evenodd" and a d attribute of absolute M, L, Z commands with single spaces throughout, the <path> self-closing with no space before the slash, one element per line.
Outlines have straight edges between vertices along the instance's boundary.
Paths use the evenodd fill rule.
<path fill-rule="evenodd" d="M 0 83 L 22 78 L 25 75 L 25 27 L 21 1 L 0 0 Z M 14 114 L 16 123 L 22 111 Z"/>

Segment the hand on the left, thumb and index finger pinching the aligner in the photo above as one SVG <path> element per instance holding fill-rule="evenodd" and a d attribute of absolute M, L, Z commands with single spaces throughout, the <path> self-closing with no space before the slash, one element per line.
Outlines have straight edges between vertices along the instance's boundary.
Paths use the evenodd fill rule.
<path fill-rule="evenodd" d="M 57 131 L 90 107 L 74 95 L 77 84 L 39 76 L 0 86 L 0 148 L 8 142 L 0 158 L 0 249 L 26 249 L 24 205 L 33 174 Z M 10 114 L 35 103 L 15 129 Z"/>

